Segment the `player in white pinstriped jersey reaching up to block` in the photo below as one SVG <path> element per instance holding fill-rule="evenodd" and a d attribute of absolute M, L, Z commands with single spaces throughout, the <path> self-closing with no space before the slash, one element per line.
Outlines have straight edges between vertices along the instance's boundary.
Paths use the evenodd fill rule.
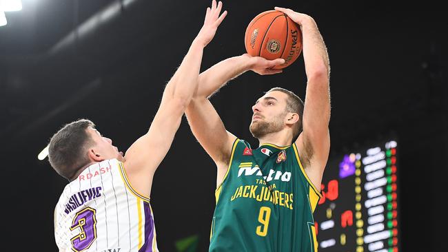
<path fill-rule="evenodd" d="M 54 211 L 59 251 L 158 251 L 150 207 L 152 178 L 167 154 L 198 85 L 203 49 L 227 12 L 212 1 L 203 27 L 166 85 L 149 131 L 126 151 L 90 120 L 65 125 L 50 140 L 49 160 L 70 183 Z"/>

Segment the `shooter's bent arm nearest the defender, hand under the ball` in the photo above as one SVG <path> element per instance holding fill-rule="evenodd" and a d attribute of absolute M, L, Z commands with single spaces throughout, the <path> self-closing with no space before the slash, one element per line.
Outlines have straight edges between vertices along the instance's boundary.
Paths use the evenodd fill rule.
<path fill-rule="evenodd" d="M 272 70 L 271 67 L 281 65 L 284 62 L 283 59 L 267 61 L 261 57 L 243 54 L 225 59 L 199 75 L 198 90 L 185 114 L 194 136 L 218 167 L 217 185 L 221 183 L 227 170 L 232 143 L 234 143 L 236 136 L 227 132 L 223 121 L 208 98 L 228 81 L 247 70 L 252 70 L 258 74 L 276 74 L 281 70 Z"/>

